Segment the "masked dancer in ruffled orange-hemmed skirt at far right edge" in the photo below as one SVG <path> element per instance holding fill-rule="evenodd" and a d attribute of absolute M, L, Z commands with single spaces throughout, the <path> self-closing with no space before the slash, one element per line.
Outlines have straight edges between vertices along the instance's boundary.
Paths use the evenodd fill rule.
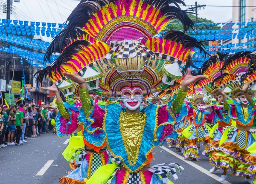
<path fill-rule="evenodd" d="M 250 58 L 252 58 L 250 52 L 237 53 L 226 60 L 222 68 L 228 74 L 224 75 L 219 86 L 224 89 L 225 96 L 233 95 L 235 98 L 238 97 L 239 101 L 233 101 L 233 105 L 228 104 L 222 93 L 224 109 L 229 117 L 236 121 L 236 126 L 225 128 L 219 147 L 215 148 L 215 152 L 212 153 L 211 164 L 224 170 L 220 182 L 227 178 L 227 172 L 245 177 L 248 183 L 252 183 L 255 178 L 253 157 L 248 151 L 256 140 L 255 132 L 250 129 L 253 124 L 255 102 L 251 98 L 252 94 L 247 92 L 250 81 L 244 84 L 243 89 L 240 89 L 237 84 L 241 76 L 244 73 L 247 74 Z"/>

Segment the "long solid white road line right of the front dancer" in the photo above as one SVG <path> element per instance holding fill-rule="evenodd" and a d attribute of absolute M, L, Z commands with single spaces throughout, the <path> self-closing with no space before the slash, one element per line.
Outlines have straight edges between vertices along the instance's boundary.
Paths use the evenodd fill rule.
<path fill-rule="evenodd" d="M 179 154 L 173 152 L 172 150 L 169 150 L 168 148 L 164 147 L 164 146 L 161 146 L 160 148 L 162 148 L 163 150 L 169 152 L 170 154 L 174 155 L 175 157 L 179 158 L 180 160 L 186 162 L 187 164 L 191 165 L 192 167 L 195 167 L 197 170 L 201 171 L 202 173 L 208 175 L 209 177 L 215 179 L 215 180 L 219 180 L 220 177 L 218 177 L 217 175 L 215 174 L 212 174 L 210 173 L 208 170 L 204 169 L 203 167 L 199 166 L 198 164 L 195 164 L 194 162 L 192 161 L 187 161 L 187 160 L 184 160 L 182 156 L 180 156 Z M 224 182 L 221 182 L 222 184 L 231 184 L 230 182 L 228 181 L 224 181 Z"/>

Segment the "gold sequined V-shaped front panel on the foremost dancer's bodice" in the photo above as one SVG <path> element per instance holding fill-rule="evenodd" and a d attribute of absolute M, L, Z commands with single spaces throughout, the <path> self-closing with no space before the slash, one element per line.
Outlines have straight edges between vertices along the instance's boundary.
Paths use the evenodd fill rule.
<path fill-rule="evenodd" d="M 130 114 L 122 111 L 119 117 L 119 124 L 129 164 L 134 166 L 140 151 L 146 115 L 144 112 Z"/>

